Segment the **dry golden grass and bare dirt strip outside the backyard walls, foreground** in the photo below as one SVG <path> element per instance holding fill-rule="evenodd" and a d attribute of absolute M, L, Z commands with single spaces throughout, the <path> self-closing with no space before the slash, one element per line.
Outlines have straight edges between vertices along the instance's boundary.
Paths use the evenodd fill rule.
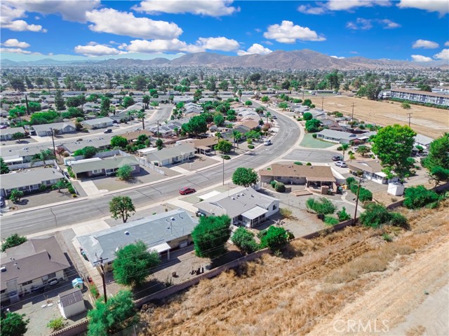
<path fill-rule="evenodd" d="M 350 335 L 335 330 L 335 318 L 386 318 L 394 330 L 427 290 L 448 283 L 448 205 L 402 210 L 408 231 L 357 227 L 293 241 L 282 257 L 265 255 L 161 302 L 142 314 L 140 335 Z M 386 232 L 392 242 L 382 239 Z M 436 298 L 443 307 L 447 299 Z M 407 335 L 426 328 L 410 325 Z M 439 332 L 448 335 L 447 324 Z"/>

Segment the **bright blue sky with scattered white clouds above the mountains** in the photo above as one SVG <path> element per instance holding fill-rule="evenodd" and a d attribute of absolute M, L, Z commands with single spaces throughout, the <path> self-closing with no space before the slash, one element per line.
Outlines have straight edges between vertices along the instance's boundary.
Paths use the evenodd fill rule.
<path fill-rule="evenodd" d="M 173 58 L 189 52 L 449 62 L 448 0 L 2 0 L 1 58 Z"/>

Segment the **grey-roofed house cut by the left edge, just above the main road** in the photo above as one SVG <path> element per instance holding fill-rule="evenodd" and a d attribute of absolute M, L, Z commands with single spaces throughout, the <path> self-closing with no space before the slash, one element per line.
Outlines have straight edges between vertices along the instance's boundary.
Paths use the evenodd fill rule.
<path fill-rule="evenodd" d="M 41 185 L 53 186 L 61 179 L 64 179 L 64 175 L 53 168 L 27 169 L 22 172 L 2 174 L 0 196 L 9 196 L 13 189 L 21 190 L 25 194 L 32 193 L 38 191 Z"/>

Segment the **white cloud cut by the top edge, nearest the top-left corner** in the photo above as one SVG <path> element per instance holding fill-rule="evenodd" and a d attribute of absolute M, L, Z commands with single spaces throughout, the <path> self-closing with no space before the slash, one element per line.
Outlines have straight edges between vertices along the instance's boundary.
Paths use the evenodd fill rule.
<path fill-rule="evenodd" d="M 86 22 L 86 12 L 100 6 L 100 0 L 4 0 L 4 2 L 26 12 L 60 14 L 64 20 L 75 22 Z"/>

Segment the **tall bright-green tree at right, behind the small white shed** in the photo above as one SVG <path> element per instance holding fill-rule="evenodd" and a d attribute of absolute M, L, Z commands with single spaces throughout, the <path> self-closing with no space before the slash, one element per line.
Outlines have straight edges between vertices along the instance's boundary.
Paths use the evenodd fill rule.
<path fill-rule="evenodd" d="M 414 162 L 409 158 L 415 135 L 410 127 L 397 124 L 383 127 L 377 132 L 372 151 L 389 174 L 394 172 L 402 178 L 413 167 Z"/>

